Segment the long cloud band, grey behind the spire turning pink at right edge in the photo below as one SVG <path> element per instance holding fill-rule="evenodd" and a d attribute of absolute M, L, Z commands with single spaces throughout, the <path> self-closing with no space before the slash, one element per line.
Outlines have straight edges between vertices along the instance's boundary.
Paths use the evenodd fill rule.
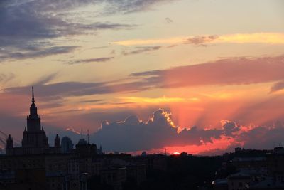
<path fill-rule="evenodd" d="M 166 70 L 133 73 L 127 80 L 114 83 L 63 82 L 40 84 L 40 95 L 80 96 L 108 93 L 133 93 L 155 88 L 185 88 L 207 85 L 248 85 L 284 80 L 284 56 L 263 58 L 227 58 Z M 6 93 L 26 94 L 29 86 L 6 88 Z M 272 88 L 273 91 L 276 88 Z M 278 88 L 277 88 L 278 89 Z"/>

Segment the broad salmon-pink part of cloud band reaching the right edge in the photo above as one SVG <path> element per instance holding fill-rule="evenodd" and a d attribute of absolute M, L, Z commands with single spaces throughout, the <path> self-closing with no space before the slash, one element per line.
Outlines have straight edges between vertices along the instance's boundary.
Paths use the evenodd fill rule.
<path fill-rule="evenodd" d="M 263 58 L 228 58 L 168 70 L 133 73 L 156 88 L 197 85 L 247 85 L 284 79 L 284 56 Z"/>

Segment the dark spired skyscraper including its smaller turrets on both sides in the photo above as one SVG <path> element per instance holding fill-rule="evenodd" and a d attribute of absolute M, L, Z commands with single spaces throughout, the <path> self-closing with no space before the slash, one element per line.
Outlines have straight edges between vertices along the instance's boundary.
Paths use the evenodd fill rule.
<path fill-rule="evenodd" d="M 38 108 L 35 105 L 35 97 L 32 88 L 32 104 L 30 107 L 30 115 L 27 117 L 27 127 L 23 131 L 22 147 L 13 147 L 13 139 L 9 134 L 6 141 L 7 155 L 24 155 L 24 154 L 48 154 L 60 153 L 60 139 L 58 135 L 55 137 L 55 147 L 50 147 L 48 137 L 40 123 Z"/>

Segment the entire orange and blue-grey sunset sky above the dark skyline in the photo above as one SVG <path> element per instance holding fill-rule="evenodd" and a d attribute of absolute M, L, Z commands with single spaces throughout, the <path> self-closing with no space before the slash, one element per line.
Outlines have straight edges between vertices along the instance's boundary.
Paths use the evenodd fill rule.
<path fill-rule="evenodd" d="M 284 1 L 1 0 L 0 130 L 107 152 L 284 144 Z M 1 144 L 3 147 L 3 144 Z"/>

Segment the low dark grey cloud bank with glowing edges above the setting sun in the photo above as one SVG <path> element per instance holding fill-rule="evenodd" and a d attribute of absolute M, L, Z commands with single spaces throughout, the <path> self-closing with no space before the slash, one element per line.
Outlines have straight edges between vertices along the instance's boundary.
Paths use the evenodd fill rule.
<path fill-rule="evenodd" d="M 204 130 L 199 127 L 182 129 L 175 126 L 170 113 L 159 109 L 147 122 L 132 115 L 124 121 L 102 122 L 102 128 L 91 135 L 92 142 L 102 144 L 106 151 L 135 152 L 164 147 L 188 147 L 212 145 L 226 139 L 231 146 L 269 149 L 275 142 L 283 142 L 284 127 L 278 122 L 273 127 L 241 126 L 236 122 L 222 120 L 220 127 Z M 190 149 L 185 151 L 190 152 Z M 212 150 L 214 152 L 214 150 Z"/>

